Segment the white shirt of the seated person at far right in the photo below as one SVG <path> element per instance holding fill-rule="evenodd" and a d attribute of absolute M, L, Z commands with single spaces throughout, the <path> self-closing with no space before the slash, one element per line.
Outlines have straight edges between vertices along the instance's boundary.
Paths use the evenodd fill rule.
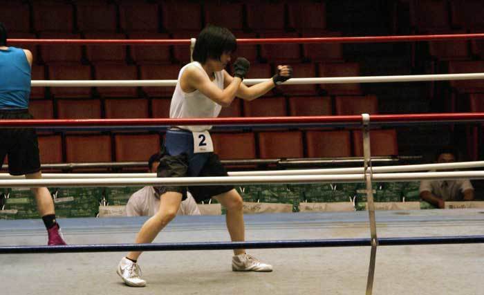
<path fill-rule="evenodd" d="M 444 201 L 462 201 L 467 189 L 474 190 L 469 180 L 422 180 L 419 191 L 430 191 Z"/>

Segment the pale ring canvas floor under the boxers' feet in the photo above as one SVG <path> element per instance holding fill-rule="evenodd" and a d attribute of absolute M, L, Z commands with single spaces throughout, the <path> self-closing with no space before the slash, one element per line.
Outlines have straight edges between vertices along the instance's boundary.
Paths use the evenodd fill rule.
<path fill-rule="evenodd" d="M 69 244 L 133 242 L 145 218 L 59 220 Z M 368 237 L 364 211 L 246 216 L 247 240 Z M 484 210 L 377 212 L 380 237 L 483 235 Z M 179 216 L 156 242 L 228 240 L 223 216 Z M 42 245 L 40 220 L 0 220 L 0 245 Z M 236 273 L 231 251 L 147 252 L 145 288 L 115 274 L 124 253 L 0 255 L 0 294 L 364 294 L 370 247 L 254 249 L 272 273 Z M 484 294 L 484 245 L 379 247 L 373 294 Z"/>

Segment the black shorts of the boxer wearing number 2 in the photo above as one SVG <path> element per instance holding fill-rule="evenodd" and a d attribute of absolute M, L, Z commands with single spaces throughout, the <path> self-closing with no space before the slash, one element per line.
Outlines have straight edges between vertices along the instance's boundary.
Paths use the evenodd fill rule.
<path fill-rule="evenodd" d="M 187 155 L 163 155 L 158 166 L 158 177 L 188 177 L 188 160 Z M 225 167 L 218 160 L 218 155 L 210 153 L 209 158 L 203 166 L 198 177 L 207 176 L 228 176 Z M 234 189 L 232 185 L 207 185 L 207 186 L 192 186 L 192 187 L 174 187 L 162 186 L 155 188 L 160 196 L 167 191 L 174 191 L 183 195 L 183 200 L 187 198 L 187 190 L 192 193 L 196 202 L 209 200 L 213 196 L 227 193 Z"/>

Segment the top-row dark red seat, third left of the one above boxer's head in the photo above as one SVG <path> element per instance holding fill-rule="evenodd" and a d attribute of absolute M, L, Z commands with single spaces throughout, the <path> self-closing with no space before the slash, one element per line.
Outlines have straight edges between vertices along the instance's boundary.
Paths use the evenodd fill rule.
<path fill-rule="evenodd" d="M 77 1 L 77 28 L 81 32 L 116 32 L 118 9 L 114 3 Z"/>

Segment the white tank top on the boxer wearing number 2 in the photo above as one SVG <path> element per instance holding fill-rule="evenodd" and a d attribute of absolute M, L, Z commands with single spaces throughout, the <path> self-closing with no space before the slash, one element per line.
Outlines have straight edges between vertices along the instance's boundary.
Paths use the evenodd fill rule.
<path fill-rule="evenodd" d="M 180 87 L 180 78 L 189 66 L 196 66 L 205 75 L 208 74 L 203 70 L 202 65 L 198 61 L 193 61 L 181 68 L 178 74 L 178 82 L 176 83 L 175 92 L 171 97 L 171 104 L 169 107 L 170 118 L 210 118 L 217 117 L 220 113 L 222 106 L 217 104 L 212 99 L 203 95 L 198 89 L 192 93 L 185 93 Z M 223 90 L 223 72 L 215 72 L 215 79 L 212 81 L 218 88 Z M 197 126 L 177 126 L 180 129 L 186 129 L 189 131 L 206 131 L 212 129 L 209 125 L 197 125 Z"/>

